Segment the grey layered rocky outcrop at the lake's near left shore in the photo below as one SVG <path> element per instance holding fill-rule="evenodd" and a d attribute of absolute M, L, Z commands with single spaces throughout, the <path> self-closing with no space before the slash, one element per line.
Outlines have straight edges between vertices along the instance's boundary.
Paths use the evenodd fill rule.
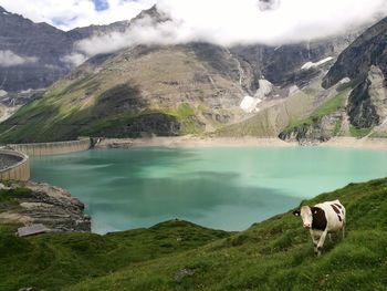
<path fill-rule="evenodd" d="M 10 191 L 11 204 L 1 204 L 0 224 L 42 224 L 53 231 L 91 231 L 91 219 L 84 205 L 71 194 L 49 184 L 28 181 L 2 185 Z"/>

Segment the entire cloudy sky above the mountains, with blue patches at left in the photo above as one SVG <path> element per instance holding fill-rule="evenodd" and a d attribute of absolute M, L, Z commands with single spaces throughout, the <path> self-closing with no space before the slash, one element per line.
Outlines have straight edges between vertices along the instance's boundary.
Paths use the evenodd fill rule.
<path fill-rule="evenodd" d="M 0 6 L 69 30 L 129 20 L 156 2 L 170 21 L 144 19 L 126 33 L 79 43 L 77 53 L 90 56 L 139 43 L 190 41 L 280 45 L 343 33 L 387 14 L 387 0 L 0 0 Z"/>

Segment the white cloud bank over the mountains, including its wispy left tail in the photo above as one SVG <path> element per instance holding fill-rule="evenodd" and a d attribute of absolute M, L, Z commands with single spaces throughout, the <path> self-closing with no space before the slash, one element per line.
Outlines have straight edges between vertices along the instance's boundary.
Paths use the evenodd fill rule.
<path fill-rule="evenodd" d="M 342 33 L 387 14 L 385 0 L 159 0 L 170 21 L 145 18 L 125 33 L 94 37 L 77 43 L 86 55 L 134 44 L 205 41 L 221 45 L 286 44 Z"/>

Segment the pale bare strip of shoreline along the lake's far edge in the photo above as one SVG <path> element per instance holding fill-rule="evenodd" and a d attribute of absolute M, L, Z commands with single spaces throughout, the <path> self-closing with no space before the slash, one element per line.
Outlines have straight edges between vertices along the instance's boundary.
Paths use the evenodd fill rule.
<path fill-rule="evenodd" d="M 284 142 L 276 137 L 149 137 L 149 138 L 103 138 L 95 148 L 130 147 L 292 147 L 296 142 Z M 334 137 L 325 143 L 302 146 L 343 147 L 362 149 L 387 149 L 387 138 Z"/>

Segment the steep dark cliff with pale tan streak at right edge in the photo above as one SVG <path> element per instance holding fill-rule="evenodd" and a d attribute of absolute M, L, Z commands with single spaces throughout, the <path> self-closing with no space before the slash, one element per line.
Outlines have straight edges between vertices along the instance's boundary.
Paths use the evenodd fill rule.
<path fill-rule="evenodd" d="M 344 77 L 354 86 L 347 106 L 351 124 L 367 128 L 387 118 L 387 18 L 365 31 L 337 59 L 324 77 L 330 87 Z"/>

